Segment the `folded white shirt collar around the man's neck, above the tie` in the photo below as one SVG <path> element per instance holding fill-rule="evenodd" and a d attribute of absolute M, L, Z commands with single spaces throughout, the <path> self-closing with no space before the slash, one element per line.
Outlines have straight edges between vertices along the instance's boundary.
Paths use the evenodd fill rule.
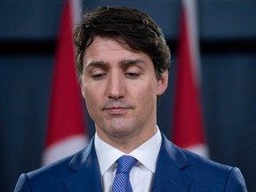
<path fill-rule="evenodd" d="M 132 152 L 129 154 L 130 156 L 138 159 L 140 164 L 143 164 L 150 172 L 153 173 L 156 171 L 156 160 L 162 141 L 158 126 L 156 126 L 156 128 L 157 131 L 153 137 L 144 142 L 138 148 L 132 150 Z M 101 176 L 107 172 L 113 164 L 115 164 L 116 160 L 120 156 L 125 155 L 124 152 L 110 146 L 105 141 L 100 140 L 97 132 L 95 133 L 94 146 L 98 156 Z"/>

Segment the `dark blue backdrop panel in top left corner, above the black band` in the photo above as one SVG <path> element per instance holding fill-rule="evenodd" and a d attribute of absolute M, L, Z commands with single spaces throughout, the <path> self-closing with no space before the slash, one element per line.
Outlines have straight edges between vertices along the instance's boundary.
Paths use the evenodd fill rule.
<path fill-rule="evenodd" d="M 58 34 L 62 0 L 1 0 L 0 39 L 52 39 Z"/>

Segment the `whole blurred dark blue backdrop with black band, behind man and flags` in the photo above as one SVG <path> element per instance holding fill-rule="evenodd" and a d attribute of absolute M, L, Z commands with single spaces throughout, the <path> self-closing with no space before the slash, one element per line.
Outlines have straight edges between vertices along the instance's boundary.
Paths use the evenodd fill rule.
<path fill-rule="evenodd" d="M 82 12 L 110 4 L 139 8 L 164 31 L 172 67 L 157 122 L 171 138 L 180 1 L 84 0 Z M 63 0 L 0 0 L 1 191 L 12 191 L 21 172 L 41 166 L 63 5 Z M 197 8 L 210 158 L 239 167 L 248 190 L 256 191 L 256 2 L 199 0 Z M 92 120 L 84 116 L 92 137 Z"/>

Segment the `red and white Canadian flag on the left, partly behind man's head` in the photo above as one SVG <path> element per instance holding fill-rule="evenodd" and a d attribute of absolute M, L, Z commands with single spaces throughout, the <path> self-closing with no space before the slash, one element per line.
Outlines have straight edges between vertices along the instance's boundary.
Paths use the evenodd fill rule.
<path fill-rule="evenodd" d="M 60 24 L 52 82 L 52 100 L 43 165 L 71 155 L 88 142 L 83 101 L 76 80 L 73 29 L 79 22 L 80 4 L 67 0 Z"/>

